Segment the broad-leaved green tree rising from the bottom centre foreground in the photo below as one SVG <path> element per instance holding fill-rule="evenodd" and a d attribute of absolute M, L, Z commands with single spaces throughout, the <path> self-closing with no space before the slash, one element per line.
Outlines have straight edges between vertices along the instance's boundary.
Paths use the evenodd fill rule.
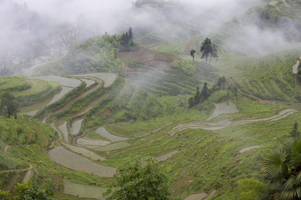
<path fill-rule="evenodd" d="M 103 196 L 110 195 L 106 200 L 170 200 L 169 177 L 166 167 L 156 164 L 158 160 L 147 156 L 137 156 L 134 163 L 127 162 L 117 166 L 113 181 Z M 142 167 L 142 162 L 147 165 Z M 110 194 L 111 193 L 111 194 Z M 182 198 L 175 198 L 176 200 Z"/>

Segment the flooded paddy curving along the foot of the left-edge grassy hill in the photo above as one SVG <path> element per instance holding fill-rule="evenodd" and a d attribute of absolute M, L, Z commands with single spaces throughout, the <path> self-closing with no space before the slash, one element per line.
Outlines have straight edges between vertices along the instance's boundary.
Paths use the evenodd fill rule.
<path fill-rule="evenodd" d="M 51 96 L 51 98 L 45 100 L 42 103 L 37 103 L 37 104 L 31 105 L 31 106 L 19 108 L 20 113 L 33 116 L 39 111 L 39 109 L 60 100 L 67 92 L 69 92 L 73 89 L 70 87 L 62 87 L 62 88 L 63 89 L 61 91 L 57 91 L 56 93 L 54 93 L 54 95 Z"/>

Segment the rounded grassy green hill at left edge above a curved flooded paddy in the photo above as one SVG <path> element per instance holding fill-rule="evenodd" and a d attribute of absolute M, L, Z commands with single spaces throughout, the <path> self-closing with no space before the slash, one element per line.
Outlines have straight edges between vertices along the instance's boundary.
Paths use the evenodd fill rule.
<path fill-rule="evenodd" d="M 58 82 L 31 79 L 25 76 L 2 76 L 0 86 L 0 91 L 9 91 L 18 99 L 20 106 L 42 102 L 61 90 Z"/>

